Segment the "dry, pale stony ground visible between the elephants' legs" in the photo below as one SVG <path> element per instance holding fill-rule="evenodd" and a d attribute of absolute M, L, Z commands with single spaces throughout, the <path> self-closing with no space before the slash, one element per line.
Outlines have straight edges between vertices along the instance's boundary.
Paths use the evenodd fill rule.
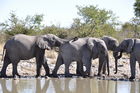
<path fill-rule="evenodd" d="M 2 55 L 2 46 L 0 47 L 0 59 Z M 112 79 L 128 79 L 130 77 L 130 65 L 129 65 L 129 56 L 123 55 L 121 59 L 118 61 L 118 73 L 114 74 L 114 68 L 115 68 L 115 62 L 114 58 L 112 57 L 112 53 L 109 52 L 109 65 L 110 65 L 110 76 L 109 78 Z M 46 51 L 46 57 L 48 58 L 48 65 L 50 68 L 50 72 L 54 69 L 55 62 L 57 59 L 57 52 L 55 51 Z M 0 70 L 3 66 L 3 62 L 0 61 Z M 59 68 L 58 73 L 63 74 L 64 73 L 64 65 L 62 65 Z M 73 62 L 70 66 L 70 73 L 75 74 L 76 73 L 76 62 Z M 91 67 L 91 75 L 94 76 L 97 74 L 98 69 L 98 59 L 92 61 L 92 67 Z M 18 72 L 22 76 L 34 76 L 36 74 L 36 64 L 35 59 L 30 60 L 22 60 L 18 64 Z M 11 75 L 12 73 L 12 65 L 10 64 L 7 68 L 7 75 Z M 41 74 L 44 75 L 44 68 L 42 68 Z M 136 78 L 140 79 L 140 71 L 138 64 L 136 63 Z"/>

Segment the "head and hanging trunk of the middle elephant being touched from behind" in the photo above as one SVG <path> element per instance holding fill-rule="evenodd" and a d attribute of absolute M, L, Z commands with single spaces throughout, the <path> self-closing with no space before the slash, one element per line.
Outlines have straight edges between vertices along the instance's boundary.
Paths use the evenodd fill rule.
<path fill-rule="evenodd" d="M 97 38 L 89 38 L 87 41 L 87 46 L 90 49 L 92 53 L 92 58 L 99 58 L 99 69 L 98 69 L 98 75 L 101 72 L 101 69 L 103 66 L 106 66 L 107 64 L 107 71 L 109 75 L 109 58 L 108 58 L 108 50 L 106 47 L 106 44 L 103 40 L 97 39 Z M 105 71 L 103 71 L 105 72 Z"/>

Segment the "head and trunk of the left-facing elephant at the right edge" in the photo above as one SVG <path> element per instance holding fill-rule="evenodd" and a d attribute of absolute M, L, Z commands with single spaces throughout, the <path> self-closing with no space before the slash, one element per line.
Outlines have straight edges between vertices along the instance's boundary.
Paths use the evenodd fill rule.
<path fill-rule="evenodd" d="M 133 47 L 135 45 L 135 40 L 134 39 L 125 39 L 123 40 L 120 45 L 116 48 L 114 52 L 114 56 L 116 59 L 120 59 L 122 57 L 122 53 L 131 53 L 133 51 Z M 116 72 L 117 73 L 117 62 L 116 62 Z"/>

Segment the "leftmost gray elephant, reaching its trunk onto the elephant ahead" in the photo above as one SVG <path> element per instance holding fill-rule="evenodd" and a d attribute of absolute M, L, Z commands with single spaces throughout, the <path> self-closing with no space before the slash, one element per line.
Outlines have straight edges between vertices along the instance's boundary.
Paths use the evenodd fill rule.
<path fill-rule="evenodd" d="M 33 57 L 36 58 L 37 74 L 40 75 L 40 68 L 43 65 L 46 71 L 46 75 L 49 75 L 49 67 L 47 60 L 45 60 L 45 49 L 50 50 L 54 46 L 60 46 L 67 40 L 60 39 L 53 34 L 40 35 L 40 36 L 28 36 L 24 34 L 18 34 L 8 40 L 4 46 L 5 56 L 4 63 L 1 70 L 1 76 L 6 76 L 7 66 L 12 63 L 13 72 L 12 75 L 20 76 L 17 72 L 17 65 L 20 60 L 28 60 Z"/>

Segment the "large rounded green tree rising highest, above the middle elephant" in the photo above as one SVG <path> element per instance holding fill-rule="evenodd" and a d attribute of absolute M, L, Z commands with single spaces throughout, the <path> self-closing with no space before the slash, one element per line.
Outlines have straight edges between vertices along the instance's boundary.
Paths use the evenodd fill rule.
<path fill-rule="evenodd" d="M 71 29 L 75 29 L 80 37 L 103 36 L 107 31 L 103 28 L 116 25 L 116 17 L 112 11 L 99 9 L 97 6 L 77 6 L 79 18 L 75 18 Z M 115 29 L 114 29 L 115 30 Z M 108 33 L 108 32 L 107 32 Z"/>

